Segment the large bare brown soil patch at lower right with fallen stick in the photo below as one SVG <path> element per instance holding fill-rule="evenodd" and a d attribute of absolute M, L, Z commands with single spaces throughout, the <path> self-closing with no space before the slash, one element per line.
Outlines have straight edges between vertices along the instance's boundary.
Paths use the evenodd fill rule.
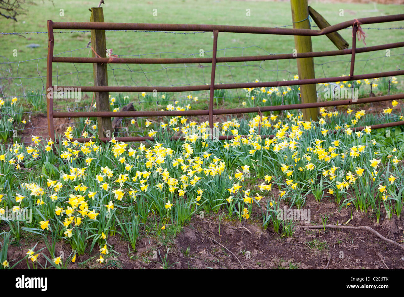
<path fill-rule="evenodd" d="M 324 213 L 331 215 L 330 224 L 345 223 L 351 217 L 350 210 L 343 209 L 339 213 L 334 202 L 324 199 L 317 203 L 311 197 L 304 207 L 311 209 L 311 222 L 320 225 Z M 190 246 L 192 256 L 189 259 L 173 257 L 173 261 L 181 261 L 181 268 L 188 265 L 194 268 L 241 268 L 237 259 L 213 243 L 210 237 L 231 250 L 244 268 L 323 269 L 327 263 L 328 269 L 386 269 L 386 265 L 390 269 L 404 268 L 403 251 L 370 232 L 296 228 L 292 238 L 282 238 L 273 232 L 272 227 L 262 230 L 260 221 L 222 221 L 220 234 L 218 224 L 218 218 L 213 217 L 211 221 L 195 219 L 185 227 L 176 245 L 181 249 Z M 304 223 L 299 221 L 297 224 Z M 354 211 L 349 225 L 367 225 L 387 238 L 403 240 L 403 218 L 383 219 L 377 225 L 369 213 Z M 240 227 L 246 227 L 252 234 Z"/>

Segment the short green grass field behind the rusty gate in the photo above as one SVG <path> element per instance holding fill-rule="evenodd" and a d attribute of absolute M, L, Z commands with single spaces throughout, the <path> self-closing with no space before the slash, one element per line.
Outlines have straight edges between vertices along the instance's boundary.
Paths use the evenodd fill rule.
<path fill-rule="evenodd" d="M 27 15 L 19 17 L 17 23 L 0 19 L 2 32 L 46 32 L 46 20 L 53 21 L 89 21 L 88 8 L 97 6 L 98 1 L 72 1 L 67 5 L 64 1 L 38 1 L 37 5 L 29 6 Z M 352 3 L 322 3 L 311 1 L 318 12 L 331 23 L 379 15 L 404 13 L 404 6 L 377 5 Z M 73 9 L 69 7 L 81 7 Z M 64 16 L 61 17 L 60 10 Z M 153 16 L 157 9 L 157 16 Z M 250 17 L 246 10 L 250 9 Z M 344 9 L 344 16 L 339 16 Z M 105 21 L 107 22 L 139 22 L 139 23 L 196 23 L 220 25 L 248 26 L 284 26 L 291 25 L 292 18 L 289 2 L 266 1 L 153 1 L 126 2 L 106 1 L 103 4 Z M 312 22 L 314 25 L 314 22 Z M 403 22 L 363 25 L 366 33 L 367 46 L 398 42 L 402 40 L 403 30 L 376 30 L 372 28 L 398 28 Z M 317 28 L 315 28 L 317 29 Z M 56 30 L 60 31 L 60 30 Z M 344 29 L 340 34 L 351 44 L 351 29 Z M 47 34 L 22 34 L 1 36 L 1 62 L 19 62 L 0 64 L 2 77 L 14 77 L 13 80 L 2 80 L 3 96 L 23 95 L 23 91 L 34 90 L 42 92 L 46 82 Z M 90 32 L 55 33 L 54 54 L 61 56 L 88 57 L 90 49 L 85 48 L 90 40 Z M 314 51 L 335 50 L 335 46 L 326 36 L 312 38 Z M 38 48 L 28 48 L 28 44 L 40 44 Z M 113 48 L 113 53 L 126 57 L 198 57 L 200 49 L 205 57 L 211 55 L 213 34 L 210 32 L 197 34 L 172 34 L 162 32 L 107 32 L 107 48 Z M 358 47 L 364 46 L 362 42 Z M 219 33 L 218 57 L 239 55 L 265 55 L 268 53 L 292 53 L 294 49 L 292 36 L 267 36 L 259 34 Z M 74 51 L 78 48 L 84 48 Z M 17 49 L 18 56 L 13 56 Z M 73 52 L 71 52 L 73 51 Z M 402 68 L 403 48 L 391 50 L 391 56 L 385 57 L 385 51 L 358 54 L 356 57 L 356 74 L 396 70 Z M 65 53 L 63 53 L 65 52 Z M 45 59 L 38 59 L 44 58 Z M 27 61 L 29 60 L 29 61 Z M 315 58 L 316 77 L 340 76 L 349 71 L 350 56 Z M 22 62 L 23 61 L 23 62 Z M 400 66 L 401 65 L 401 66 Z M 7 69 L 11 67 L 11 72 Z M 200 65 L 126 65 L 109 64 L 109 85 L 120 86 L 156 86 L 156 85 L 188 85 L 210 82 L 210 64 Z M 91 64 L 54 64 L 54 84 L 59 85 L 92 85 L 93 73 Z M 289 80 L 297 74 L 296 62 L 292 60 L 218 64 L 216 83 L 251 82 Z M 400 78 L 399 78 L 400 81 Z M 401 82 L 400 82 L 401 83 Z M 21 87 L 23 86 L 23 88 Z M 116 96 L 117 94 L 111 94 Z M 188 94 L 180 94 L 179 96 Z M 206 97 L 206 92 L 198 93 Z M 240 95 L 240 94 L 238 94 Z M 92 94 L 88 94 L 92 96 Z M 130 97 L 138 97 L 131 94 Z M 233 96 L 233 95 L 227 95 Z M 234 94 L 237 96 L 237 94 Z M 239 100 L 237 100 L 239 102 Z M 57 106 L 59 103 L 57 103 Z M 62 103 L 60 103 L 62 104 Z M 63 103 L 63 106 L 65 103 Z M 155 106 L 155 105 L 154 105 Z"/>

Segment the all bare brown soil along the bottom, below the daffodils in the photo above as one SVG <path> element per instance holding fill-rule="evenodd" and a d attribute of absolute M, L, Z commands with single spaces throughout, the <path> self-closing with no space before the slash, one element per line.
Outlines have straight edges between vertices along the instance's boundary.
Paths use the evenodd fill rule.
<path fill-rule="evenodd" d="M 330 216 L 328 224 L 345 223 L 351 218 L 351 209 L 343 208 L 338 212 L 335 202 L 328 199 L 323 198 L 318 203 L 313 196 L 308 197 L 304 208 L 311 210 L 310 224 L 321 225 L 321 215 L 325 213 Z M 121 240 L 119 235 L 109 236 L 107 242 L 110 245 L 110 254 L 106 262 L 103 264 L 96 262 L 96 258 L 99 257 L 96 245 L 92 253 L 78 256 L 76 263 L 72 263 L 69 268 L 160 269 L 161 257 L 166 255 L 167 246 L 170 248 L 168 252 L 170 269 L 241 269 L 238 260 L 246 269 L 404 268 L 403 250 L 371 232 L 339 229 L 306 230 L 295 227 L 293 237 L 285 238 L 274 233 L 272 225 L 263 230 L 262 221 L 257 214 L 258 211 L 253 212 L 250 219 L 241 223 L 238 220 L 229 221 L 223 218 L 220 233 L 219 214 L 206 214 L 204 219 L 194 217 L 167 245 L 143 234 L 137 241 L 136 253 L 128 254 L 128 243 Z M 296 224 L 304 225 L 305 222 L 296 221 Z M 388 220 L 383 209 L 379 224 L 371 212 L 365 214 L 353 211 L 353 219 L 347 225 L 370 226 L 386 238 L 396 242 L 404 241 L 404 218 L 393 217 Z M 210 238 L 234 253 L 238 260 Z M 11 244 L 8 259 L 23 257 L 27 249 L 35 243 L 35 240 L 31 240 L 20 242 L 20 245 Z M 44 243 L 40 242 L 36 250 L 44 246 Z M 46 248 L 43 251 L 49 257 Z M 56 251 L 57 255 L 60 251 L 69 255 L 71 247 L 60 242 L 56 244 Z M 38 257 L 38 261 L 42 261 L 43 263 L 40 262 L 42 265 L 45 264 L 43 256 Z M 17 268 L 26 268 L 26 262 L 21 262 Z"/>

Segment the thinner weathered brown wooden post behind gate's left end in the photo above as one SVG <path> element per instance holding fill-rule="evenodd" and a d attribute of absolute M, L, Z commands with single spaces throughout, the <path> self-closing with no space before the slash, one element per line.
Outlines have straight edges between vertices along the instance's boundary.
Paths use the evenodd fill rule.
<path fill-rule="evenodd" d="M 102 7 L 92 7 L 90 22 L 104 22 Z M 91 47 L 93 48 L 93 57 L 107 57 L 105 30 L 91 30 Z M 96 55 L 97 53 L 97 55 Z M 93 75 L 95 86 L 108 86 L 108 73 L 106 63 L 93 63 Z M 108 92 L 95 92 L 95 103 L 97 111 L 109 112 L 109 94 Z M 111 118 L 97 118 L 98 136 L 113 137 Z"/>

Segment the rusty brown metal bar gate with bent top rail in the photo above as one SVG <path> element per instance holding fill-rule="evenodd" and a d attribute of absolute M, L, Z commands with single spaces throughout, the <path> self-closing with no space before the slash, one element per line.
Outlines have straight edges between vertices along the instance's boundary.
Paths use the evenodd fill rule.
<path fill-rule="evenodd" d="M 384 23 L 392 21 L 404 21 L 404 14 L 390 15 L 382 17 L 368 17 L 346 21 L 336 25 L 326 27 L 321 30 L 314 29 L 292 29 L 292 28 L 270 28 L 270 27 L 247 27 L 247 26 L 223 26 L 223 25 L 193 25 L 193 24 L 147 24 L 147 23 L 94 23 L 94 22 L 53 22 L 48 21 L 48 60 L 47 60 L 47 74 L 46 74 L 46 103 L 48 114 L 48 132 L 52 140 L 55 139 L 55 130 L 53 118 L 81 118 L 81 117 L 138 117 L 138 116 L 209 116 L 210 133 L 213 131 L 213 115 L 219 114 L 242 114 L 251 112 L 266 112 L 275 110 L 292 110 L 292 109 L 305 109 L 313 107 L 327 107 L 337 105 L 349 105 L 370 103 L 377 101 L 389 101 L 394 99 L 404 99 L 404 93 L 396 95 L 387 95 L 379 97 L 369 97 L 358 99 L 353 102 L 352 100 L 341 101 L 326 101 L 318 103 L 301 103 L 292 105 L 277 105 L 266 107 L 248 107 L 248 108 L 233 108 L 233 109 L 213 109 L 214 91 L 219 89 L 238 89 L 238 88 L 261 88 L 272 86 L 290 86 L 302 84 L 316 84 L 326 82 L 337 82 L 343 80 L 362 80 L 366 78 L 387 77 L 387 76 L 400 76 L 404 74 L 404 70 L 396 70 L 389 72 L 379 72 L 370 74 L 354 74 L 355 56 L 356 53 L 365 53 L 370 51 L 378 51 L 389 48 L 403 47 L 404 42 L 396 42 L 389 44 L 382 44 L 378 46 L 369 46 L 356 48 L 356 32 L 358 30 L 358 23 L 360 24 L 373 24 Z M 297 54 L 280 54 L 280 55 L 259 55 L 259 56 L 242 56 L 242 57 L 216 57 L 217 53 L 217 39 L 219 32 L 230 33 L 249 33 L 249 34 L 278 34 L 278 35 L 297 35 L 297 36 L 321 36 L 336 32 L 340 29 L 352 27 L 352 48 L 339 50 L 339 51 L 324 51 L 312 53 L 297 53 Z M 54 29 L 100 29 L 100 30 L 155 30 L 155 31 L 183 31 L 183 32 L 213 32 L 213 55 L 211 58 L 156 58 L 156 59 L 142 59 L 142 58 L 97 58 L 97 57 L 53 57 L 54 46 Z M 327 78 L 313 78 L 313 79 L 300 79 L 288 81 L 275 81 L 275 82 L 249 82 L 249 83 L 231 83 L 231 84 L 215 84 L 215 70 L 216 63 L 221 62 L 247 62 L 247 61 L 267 61 L 276 59 L 299 59 L 306 57 L 327 57 L 334 55 L 351 55 L 351 67 L 349 76 L 327 77 Z M 210 91 L 209 109 L 208 110 L 187 110 L 187 111 L 135 111 L 135 112 L 54 112 L 53 111 L 53 92 L 57 88 L 75 88 L 78 86 L 53 86 L 52 82 L 52 65 L 53 63 L 211 63 L 211 79 L 209 85 L 196 85 L 196 86 L 80 86 L 81 91 L 86 92 L 182 92 L 182 91 Z M 372 128 L 383 128 L 390 126 L 398 126 L 404 124 L 401 122 L 392 122 L 387 124 L 378 124 Z M 360 128 L 360 127 L 359 127 Z M 358 129 L 358 128 L 357 128 Z M 231 139 L 232 136 L 221 136 L 219 139 Z M 118 141 L 145 141 L 153 140 L 151 137 L 117 137 Z M 183 137 L 177 137 L 183 139 Z M 89 138 L 74 139 L 79 142 L 90 141 Z M 108 141 L 110 138 L 102 137 L 101 141 Z"/>

